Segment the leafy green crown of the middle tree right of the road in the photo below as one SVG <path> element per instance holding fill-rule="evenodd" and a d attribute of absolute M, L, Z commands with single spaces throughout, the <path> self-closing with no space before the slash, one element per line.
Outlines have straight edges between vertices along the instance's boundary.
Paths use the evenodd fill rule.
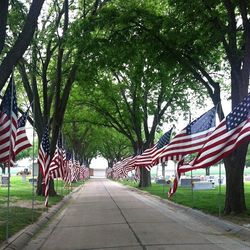
<path fill-rule="evenodd" d="M 81 36 L 74 40 L 85 47 L 87 59 L 78 74 L 82 104 L 98 112 L 103 125 L 132 144 L 144 141 L 145 147 L 157 126 L 173 122 L 177 110 L 188 109 L 188 88 L 195 90 L 176 60 L 149 34 L 161 27 L 162 17 L 148 6 L 152 2 L 113 3 L 98 18 L 74 24 L 77 32 L 92 29 L 88 42 Z M 151 131 L 149 117 L 154 119 Z"/>

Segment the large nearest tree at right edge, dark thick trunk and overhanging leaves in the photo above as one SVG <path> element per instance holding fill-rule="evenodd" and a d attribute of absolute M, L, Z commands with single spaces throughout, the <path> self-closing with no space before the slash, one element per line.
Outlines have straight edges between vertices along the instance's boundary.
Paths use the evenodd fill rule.
<path fill-rule="evenodd" d="M 158 29 L 152 29 L 153 18 L 137 23 L 158 39 L 166 53 L 189 71 L 206 88 L 215 105 L 220 105 L 222 70 L 229 74 L 232 108 L 248 93 L 250 72 L 250 20 L 248 1 L 169 1 L 167 14 L 156 13 Z M 163 21 L 162 21 L 163 20 Z M 218 77 L 219 76 L 219 77 Z M 219 108 L 219 117 L 224 113 Z M 241 145 L 224 159 L 226 168 L 225 213 L 246 210 L 243 171 L 247 145 Z"/>

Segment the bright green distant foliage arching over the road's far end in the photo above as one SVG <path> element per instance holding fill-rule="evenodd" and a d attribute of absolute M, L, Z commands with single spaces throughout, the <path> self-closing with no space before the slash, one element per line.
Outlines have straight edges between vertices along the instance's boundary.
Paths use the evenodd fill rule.
<path fill-rule="evenodd" d="M 83 159 L 85 165 L 89 165 L 93 157 L 101 155 L 112 167 L 114 162 L 131 155 L 131 146 L 126 137 L 100 125 L 102 117 L 79 102 L 83 94 L 77 86 L 71 91 L 63 126 L 66 144 L 78 158 Z"/>

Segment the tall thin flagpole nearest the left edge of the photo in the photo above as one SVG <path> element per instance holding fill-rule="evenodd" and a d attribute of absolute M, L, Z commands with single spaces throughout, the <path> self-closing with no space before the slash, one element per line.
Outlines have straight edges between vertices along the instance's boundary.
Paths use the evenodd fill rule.
<path fill-rule="evenodd" d="M 13 156 L 12 152 L 12 109 L 13 109 L 13 85 L 14 85 L 14 68 L 12 69 L 12 80 L 11 80 L 11 97 L 10 97 L 10 146 L 9 146 L 9 162 L 8 162 L 8 197 L 7 197 L 7 222 L 6 222 L 6 240 L 9 239 L 9 216 L 10 216 L 10 162 Z M 14 146 L 14 145 L 13 145 Z"/>

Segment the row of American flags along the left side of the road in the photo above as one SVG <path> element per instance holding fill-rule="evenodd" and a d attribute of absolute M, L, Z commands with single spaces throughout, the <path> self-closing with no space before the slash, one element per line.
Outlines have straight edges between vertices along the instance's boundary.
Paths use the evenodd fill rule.
<path fill-rule="evenodd" d="M 30 107 L 29 107 L 30 108 Z M 13 78 L 7 86 L 0 105 L 0 162 L 13 166 L 16 156 L 31 147 L 26 135 L 29 108 L 18 118 L 16 90 Z M 46 127 L 38 152 L 38 165 L 45 185 L 45 205 L 48 206 L 49 180 L 61 178 L 66 184 L 89 177 L 89 168 L 80 164 L 74 154 L 66 152 L 61 136 L 53 157 L 50 156 L 49 129 Z"/>

